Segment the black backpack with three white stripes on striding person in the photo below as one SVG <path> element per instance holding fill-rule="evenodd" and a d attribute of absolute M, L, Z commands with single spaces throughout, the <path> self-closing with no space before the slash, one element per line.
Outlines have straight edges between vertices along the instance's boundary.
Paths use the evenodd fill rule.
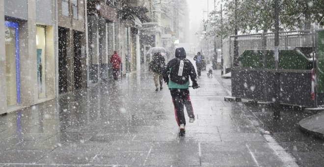
<path fill-rule="evenodd" d="M 171 65 L 170 80 L 174 83 L 185 84 L 189 81 L 189 60 L 179 59 Z"/>

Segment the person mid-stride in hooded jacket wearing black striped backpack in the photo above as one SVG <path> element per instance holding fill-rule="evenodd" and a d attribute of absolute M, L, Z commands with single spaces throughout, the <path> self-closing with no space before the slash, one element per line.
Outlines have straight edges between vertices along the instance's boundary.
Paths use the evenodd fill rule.
<path fill-rule="evenodd" d="M 175 58 L 171 59 L 163 70 L 163 80 L 167 83 L 174 105 L 175 117 L 182 135 L 185 133 L 186 119 L 184 105 L 189 116 L 189 122 L 195 120 L 189 95 L 189 77 L 192 88 L 198 88 L 197 74 L 192 63 L 186 58 L 184 48 L 177 48 Z"/>

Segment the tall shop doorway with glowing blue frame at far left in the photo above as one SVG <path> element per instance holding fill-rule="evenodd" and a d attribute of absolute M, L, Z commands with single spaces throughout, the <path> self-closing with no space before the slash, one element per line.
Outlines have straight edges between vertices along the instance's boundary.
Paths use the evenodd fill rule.
<path fill-rule="evenodd" d="M 7 106 L 20 103 L 18 23 L 4 22 Z"/>

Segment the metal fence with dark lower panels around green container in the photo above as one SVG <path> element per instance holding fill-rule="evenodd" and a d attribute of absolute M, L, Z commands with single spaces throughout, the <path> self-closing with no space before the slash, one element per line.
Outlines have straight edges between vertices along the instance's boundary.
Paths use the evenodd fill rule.
<path fill-rule="evenodd" d="M 283 64 L 279 70 L 281 104 L 316 106 L 311 99 L 310 67 L 312 67 L 312 61 L 308 60 L 312 56 L 313 35 L 309 31 L 281 32 L 279 35 L 279 50 L 283 54 Z M 238 61 L 241 60 L 244 63 L 234 62 L 234 40 L 238 43 L 237 57 L 249 50 L 244 53 L 244 56 L 238 58 Z M 273 57 L 269 55 L 273 53 L 273 49 L 274 33 L 231 36 L 229 42 L 223 43 L 224 60 L 226 59 L 224 66 L 231 66 L 232 69 L 233 97 L 274 102 L 274 61 L 271 65 Z M 259 64 L 261 60 L 262 65 Z M 233 66 L 234 64 L 237 66 Z"/>

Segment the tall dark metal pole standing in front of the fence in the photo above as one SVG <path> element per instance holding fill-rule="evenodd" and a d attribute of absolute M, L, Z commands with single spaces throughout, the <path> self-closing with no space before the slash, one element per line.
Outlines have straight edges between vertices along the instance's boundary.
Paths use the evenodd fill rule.
<path fill-rule="evenodd" d="M 273 118 L 280 118 L 280 72 L 279 72 L 279 2 L 274 0 L 274 111 Z"/>

